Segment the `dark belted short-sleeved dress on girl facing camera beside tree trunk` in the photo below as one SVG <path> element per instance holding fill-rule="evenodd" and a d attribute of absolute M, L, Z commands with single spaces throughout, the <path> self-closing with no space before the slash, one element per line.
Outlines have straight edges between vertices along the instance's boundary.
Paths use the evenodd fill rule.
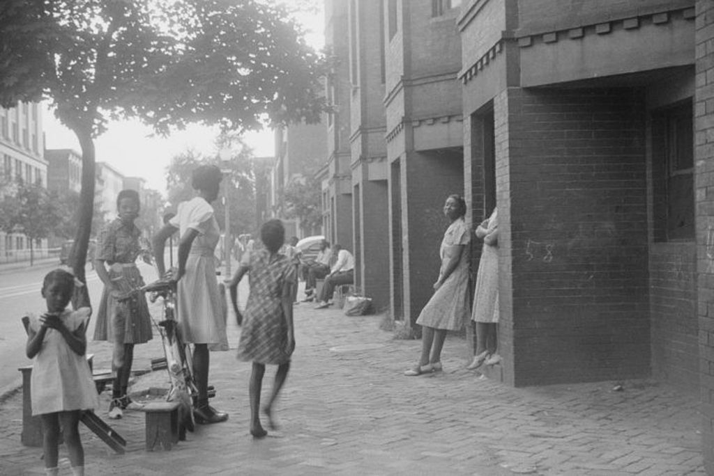
<path fill-rule="evenodd" d="M 144 286 L 144 279 L 135 264 L 141 253 L 139 237 L 141 232 L 133 223 L 127 226 L 119 218 L 99 233 L 94 259 L 109 264 L 109 279 L 119 284 L 129 296 L 120 301 L 104 286 L 96 313 L 95 341 L 144 343 L 151 340 L 149 306 L 146 296 L 137 291 Z"/>

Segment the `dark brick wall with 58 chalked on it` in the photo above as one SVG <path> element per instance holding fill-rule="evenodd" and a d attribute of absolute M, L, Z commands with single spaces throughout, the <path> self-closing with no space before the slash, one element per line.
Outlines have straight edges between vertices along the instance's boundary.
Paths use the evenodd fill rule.
<path fill-rule="evenodd" d="M 508 90 L 496 167 L 516 385 L 650 373 L 644 111 L 638 90 Z"/>

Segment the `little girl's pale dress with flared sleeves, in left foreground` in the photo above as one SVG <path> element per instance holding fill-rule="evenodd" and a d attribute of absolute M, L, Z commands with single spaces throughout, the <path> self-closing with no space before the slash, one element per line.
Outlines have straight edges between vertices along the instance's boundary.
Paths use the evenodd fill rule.
<path fill-rule="evenodd" d="M 75 331 L 89 321 L 91 309 L 66 309 L 60 316 L 66 328 Z M 29 326 L 39 332 L 39 316 L 29 316 Z M 48 328 L 42 348 L 34 359 L 30 378 L 32 415 L 99 407 L 99 396 L 92 381 L 86 356 L 71 348 L 62 334 Z"/>

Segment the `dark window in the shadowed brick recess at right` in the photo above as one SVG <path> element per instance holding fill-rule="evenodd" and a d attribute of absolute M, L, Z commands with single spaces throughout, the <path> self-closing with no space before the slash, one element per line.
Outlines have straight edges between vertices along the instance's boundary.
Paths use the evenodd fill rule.
<path fill-rule="evenodd" d="M 695 237 L 693 121 L 691 100 L 652 117 L 655 241 Z"/>

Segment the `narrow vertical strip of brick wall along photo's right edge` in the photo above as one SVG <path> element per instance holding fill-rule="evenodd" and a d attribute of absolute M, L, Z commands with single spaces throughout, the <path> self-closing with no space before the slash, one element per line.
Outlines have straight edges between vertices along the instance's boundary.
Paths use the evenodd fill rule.
<path fill-rule="evenodd" d="M 695 200 L 697 202 L 698 318 L 703 454 L 714 474 L 714 2 L 697 1 Z"/>

